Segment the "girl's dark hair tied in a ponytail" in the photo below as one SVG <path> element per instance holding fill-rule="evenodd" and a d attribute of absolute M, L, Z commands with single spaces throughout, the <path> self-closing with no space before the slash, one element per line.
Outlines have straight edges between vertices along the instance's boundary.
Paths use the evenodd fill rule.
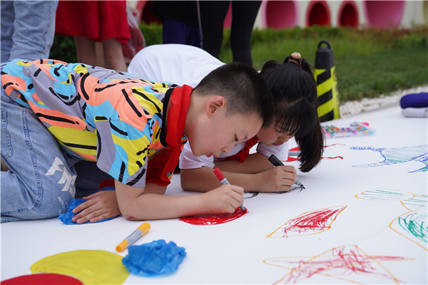
<path fill-rule="evenodd" d="M 313 68 L 302 58 L 302 68 L 285 58 L 284 63 L 267 61 L 260 74 L 265 78 L 275 105 L 277 132 L 295 135 L 300 147 L 300 170 L 308 172 L 321 160 L 324 134 L 317 113 L 317 84 Z"/>

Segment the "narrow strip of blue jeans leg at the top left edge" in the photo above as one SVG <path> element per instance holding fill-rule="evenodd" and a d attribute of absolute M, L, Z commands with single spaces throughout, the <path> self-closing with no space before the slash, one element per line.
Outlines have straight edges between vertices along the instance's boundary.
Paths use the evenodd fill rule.
<path fill-rule="evenodd" d="M 14 35 L 14 1 L 0 1 L 1 6 L 1 62 L 9 61 Z"/>

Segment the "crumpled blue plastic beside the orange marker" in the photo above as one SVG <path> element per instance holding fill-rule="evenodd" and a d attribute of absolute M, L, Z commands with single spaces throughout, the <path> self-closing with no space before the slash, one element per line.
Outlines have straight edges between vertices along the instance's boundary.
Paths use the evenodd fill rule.
<path fill-rule="evenodd" d="M 128 247 L 122 263 L 131 274 L 151 277 L 176 271 L 185 257 L 185 248 L 160 239 L 148 244 Z"/>

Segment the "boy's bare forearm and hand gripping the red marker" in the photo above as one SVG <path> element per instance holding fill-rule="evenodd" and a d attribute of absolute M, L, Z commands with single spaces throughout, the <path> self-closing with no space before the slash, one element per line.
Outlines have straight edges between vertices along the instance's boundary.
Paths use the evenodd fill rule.
<path fill-rule="evenodd" d="M 170 219 L 195 214 L 233 213 L 243 203 L 243 188 L 222 185 L 199 195 L 165 196 L 159 189 L 132 187 L 115 180 L 118 207 L 126 219 Z M 163 190 L 164 191 L 164 190 Z"/>

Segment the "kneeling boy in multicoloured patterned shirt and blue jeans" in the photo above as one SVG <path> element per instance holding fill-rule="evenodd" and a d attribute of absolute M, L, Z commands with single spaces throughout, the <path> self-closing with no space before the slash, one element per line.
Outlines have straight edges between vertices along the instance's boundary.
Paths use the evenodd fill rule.
<path fill-rule="evenodd" d="M 16 59 L 1 70 L 1 222 L 56 217 L 75 196 L 78 160 L 115 180 L 127 219 L 234 212 L 234 185 L 163 196 L 186 140 L 218 155 L 270 123 L 272 98 L 249 66 L 230 63 L 195 89 L 53 60 Z M 88 199 L 78 222 L 117 215 L 111 192 Z M 83 203 L 85 204 L 85 203 Z M 77 217 L 77 216 L 76 216 Z"/>

